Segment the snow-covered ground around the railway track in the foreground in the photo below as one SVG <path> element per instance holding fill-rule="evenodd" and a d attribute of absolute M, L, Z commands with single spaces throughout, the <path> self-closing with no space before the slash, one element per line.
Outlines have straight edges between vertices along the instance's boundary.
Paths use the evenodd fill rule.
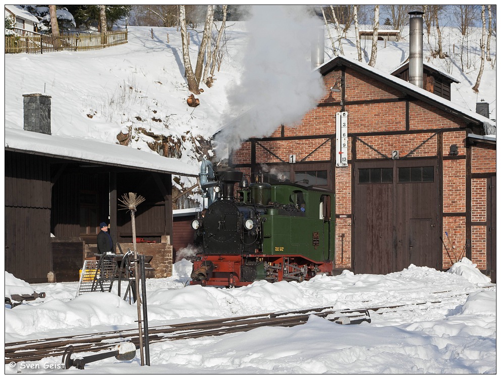
<path fill-rule="evenodd" d="M 258 281 L 234 289 L 185 287 L 190 272 L 191 263 L 182 260 L 174 265 L 171 278 L 146 280 L 150 326 L 320 306 L 410 305 L 371 312 L 372 322 L 358 325 L 310 316 L 299 326 L 266 326 L 221 337 L 155 343 L 150 345 L 150 366 L 141 366 L 137 353 L 132 361 L 108 358 L 89 363 L 83 372 L 496 372 L 496 287 L 467 259 L 448 272 L 411 265 L 387 275 L 344 271 L 301 283 Z M 137 327 L 137 307 L 116 296 L 116 288 L 112 293 L 75 298 L 76 282 L 30 286 L 6 275 L 6 293 L 23 286 L 26 293 L 46 293 L 43 302 L 6 307 L 6 342 Z M 31 363 L 6 365 L 5 372 L 82 372 L 74 367 L 60 369 L 61 356 Z"/>

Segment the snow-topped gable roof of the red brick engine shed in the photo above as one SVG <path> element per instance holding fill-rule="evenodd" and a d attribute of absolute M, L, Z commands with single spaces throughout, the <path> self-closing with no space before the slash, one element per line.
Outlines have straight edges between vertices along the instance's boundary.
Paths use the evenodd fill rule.
<path fill-rule="evenodd" d="M 468 118 L 479 124 L 483 124 L 486 134 L 490 134 L 489 131 L 492 129 L 495 130 L 496 127 L 495 121 L 492 121 L 491 119 L 484 117 L 476 112 L 470 111 L 469 109 L 462 108 L 449 100 L 437 96 L 434 93 L 431 93 L 423 88 L 420 88 L 405 80 L 397 78 L 396 76 L 393 76 L 391 74 L 387 74 L 377 68 L 371 67 L 368 64 L 359 62 L 355 59 L 343 56 L 334 57 L 328 60 L 327 62 L 323 63 L 322 65 L 318 66 L 316 69 L 319 70 L 322 74 L 325 74 L 330 70 L 331 67 L 336 65 L 337 60 L 343 61 L 344 63 L 346 63 L 351 67 L 360 68 L 365 72 L 374 74 L 374 76 L 378 76 L 379 78 L 384 79 L 386 82 L 391 82 L 396 86 L 399 86 L 400 88 L 404 89 L 406 92 L 413 93 L 413 95 L 418 97 L 420 100 L 433 103 L 434 106 L 440 109 L 443 109 L 447 112 L 450 112 L 460 117 L 462 116 L 463 118 Z"/>

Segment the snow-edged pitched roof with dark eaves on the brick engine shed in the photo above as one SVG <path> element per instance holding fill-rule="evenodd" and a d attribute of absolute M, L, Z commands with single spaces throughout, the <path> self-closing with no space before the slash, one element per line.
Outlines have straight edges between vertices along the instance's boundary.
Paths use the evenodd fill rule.
<path fill-rule="evenodd" d="M 325 62 L 316 69 L 319 70 L 322 75 L 326 75 L 333 69 L 340 66 L 350 67 L 358 72 L 362 72 L 368 77 L 372 77 L 376 80 L 384 82 L 389 86 L 397 88 L 398 90 L 402 91 L 405 94 L 408 94 L 409 96 L 412 96 L 445 112 L 458 116 L 469 123 L 482 126 L 485 134 L 493 134 L 493 131 L 495 132 L 496 123 L 491 119 L 470 111 L 469 109 L 462 108 L 457 104 L 443 99 L 423 88 L 420 88 L 396 76 L 387 74 L 381 70 L 378 70 L 354 59 L 338 56 Z"/>

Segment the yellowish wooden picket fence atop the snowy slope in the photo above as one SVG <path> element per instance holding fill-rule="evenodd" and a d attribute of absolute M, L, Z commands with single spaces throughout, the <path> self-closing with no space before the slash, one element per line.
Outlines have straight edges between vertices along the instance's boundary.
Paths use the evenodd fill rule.
<path fill-rule="evenodd" d="M 86 51 L 127 43 L 127 29 L 106 33 L 72 33 L 52 37 L 22 29 L 5 36 L 5 53 L 42 54 L 55 51 Z"/>

